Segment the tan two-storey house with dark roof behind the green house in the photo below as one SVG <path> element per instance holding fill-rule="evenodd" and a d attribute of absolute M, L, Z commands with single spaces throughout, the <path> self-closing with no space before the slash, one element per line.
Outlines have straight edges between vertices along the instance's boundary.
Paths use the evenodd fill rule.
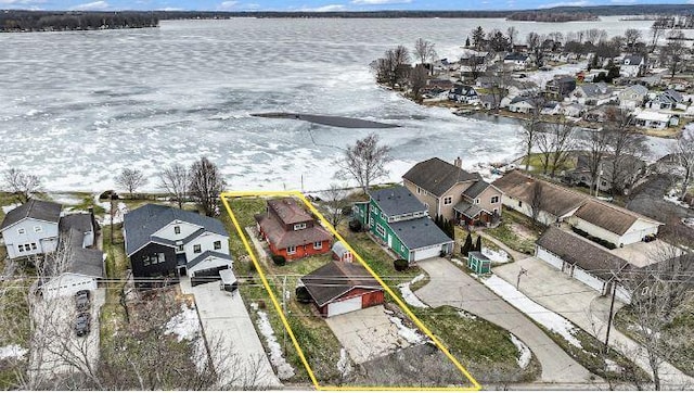
<path fill-rule="evenodd" d="M 428 210 L 432 217 L 487 225 L 501 215 L 501 191 L 479 174 L 438 157 L 415 164 L 402 175 L 402 183 Z"/>

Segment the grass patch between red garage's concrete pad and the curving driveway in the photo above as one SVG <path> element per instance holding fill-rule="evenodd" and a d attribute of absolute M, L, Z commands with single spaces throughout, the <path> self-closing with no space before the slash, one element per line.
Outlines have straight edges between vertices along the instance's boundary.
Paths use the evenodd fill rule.
<path fill-rule="evenodd" d="M 540 373 L 535 355 L 528 367 L 520 369 L 516 362 L 518 350 L 510 333 L 491 322 L 450 306 L 414 308 L 413 312 L 481 382 L 532 381 Z"/>

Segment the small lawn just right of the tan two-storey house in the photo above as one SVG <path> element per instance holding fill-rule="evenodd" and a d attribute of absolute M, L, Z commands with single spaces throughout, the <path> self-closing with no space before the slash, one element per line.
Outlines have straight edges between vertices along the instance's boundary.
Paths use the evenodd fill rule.
<path fill-rule="evenodd" d="M 535 242 L 542 230 L 529 217 L 513 210 L 504 210 L 501 224 L 497 228 L 485 229 L 485 232 L 511 249 L 525 253 L 535 253 Z"/>

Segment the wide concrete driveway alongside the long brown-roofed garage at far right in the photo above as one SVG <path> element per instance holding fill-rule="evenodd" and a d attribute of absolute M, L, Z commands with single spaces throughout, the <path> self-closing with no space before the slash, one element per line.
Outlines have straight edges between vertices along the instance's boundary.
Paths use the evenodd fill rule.
<path fill-rule="evenodd" d="M 523 276 L 520 292 L 536 303 L 562 315 L 599 340 L 605 341 L 612 300 L 609 296 L 600 296 L 588 286 L 535 257 L 499 266 L 493 270 L 497 276 L 507 282 L 515 283 L 520 267 L 528 271 Z M 622 303 L 615 302 L 615 309 L 621 306 L 624 306 Z M 651 373 L 641 345 L 619 332 L 614 326 L 609 332 L 609 345 L 633 359 L 648 375 Z M 659 371 L 661 382 L 667 389 L 689 390 L 694 386 L 694 378 L 667 362 L 660 365 Z"/>

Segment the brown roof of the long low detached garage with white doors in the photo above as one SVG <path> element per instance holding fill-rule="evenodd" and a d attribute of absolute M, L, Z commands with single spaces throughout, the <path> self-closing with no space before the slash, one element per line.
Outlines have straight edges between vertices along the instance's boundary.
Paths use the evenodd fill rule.
<path fill-rule="evenodd" d="M 602 280 L 611 280 L 613 272 L 631 266 L 606 249 L 553 226 L 548 227 L 536 243 Z"/>

